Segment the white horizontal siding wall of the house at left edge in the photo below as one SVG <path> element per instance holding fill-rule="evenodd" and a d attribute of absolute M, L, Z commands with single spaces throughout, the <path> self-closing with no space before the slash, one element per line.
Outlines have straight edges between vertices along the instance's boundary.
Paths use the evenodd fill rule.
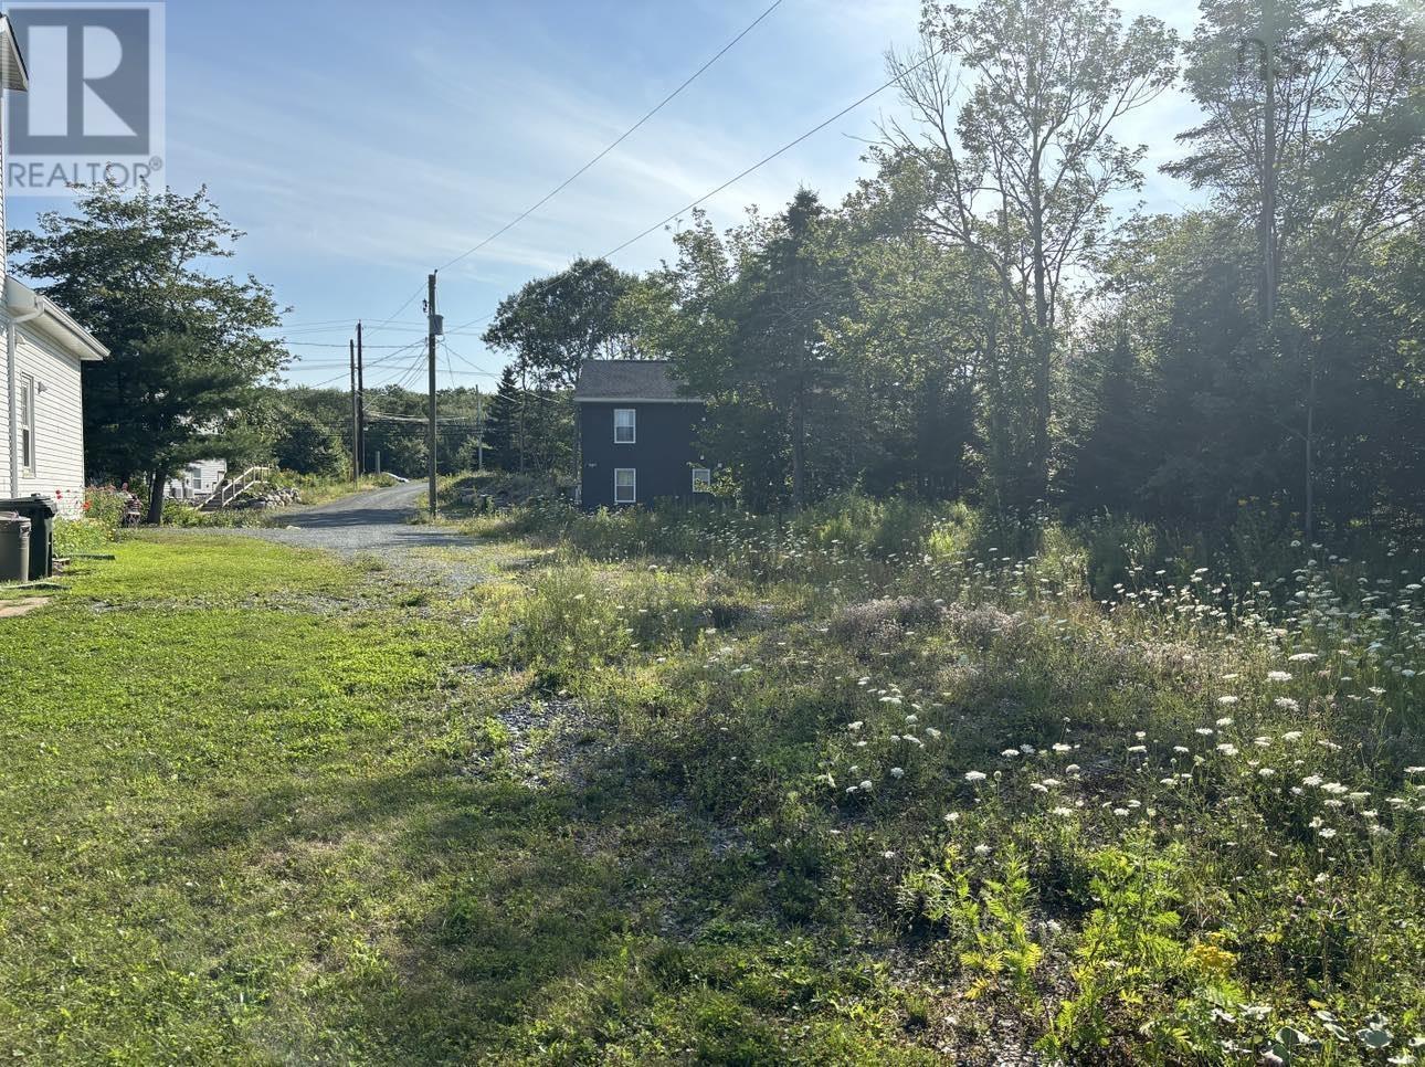
<path fill-rule="evenodd" d="M 7 319 L 0 315 L 0 396 Z M 20 326 L 16 343 L 16 385 L 34 375 L 34 473 L 20 472 L 20 496 L 53 497 L 60 511 L 78 516 L 84 504 L 84 409 L 80 360 Z M 9 406 L 0 403 L 0 497 L 10 496 Z"/>

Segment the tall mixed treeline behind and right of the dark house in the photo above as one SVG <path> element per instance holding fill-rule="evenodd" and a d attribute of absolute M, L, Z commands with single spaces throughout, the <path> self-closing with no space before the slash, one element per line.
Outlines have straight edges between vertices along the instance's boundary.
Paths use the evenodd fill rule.
<path fill-rule="evenodd" d="M 905 117 L 839 205 L 695 215 L 663 268 L 580 261 L 486 339 L 512 395 L 671 359 L 757 509 L 856 487 L 1399 523 L 1425 510 L 1422 40 L 1392 3 L 1207 0 L 1183 43 L 1097 0 L 928 4 L 888 57 Z M 1201 198 L 1126 212 L 1147 148 L 1124 123 L 1174 81 L 1201 121 L 1164 170 Z M 523 405 L 526 442 L 560 410 Z"/>

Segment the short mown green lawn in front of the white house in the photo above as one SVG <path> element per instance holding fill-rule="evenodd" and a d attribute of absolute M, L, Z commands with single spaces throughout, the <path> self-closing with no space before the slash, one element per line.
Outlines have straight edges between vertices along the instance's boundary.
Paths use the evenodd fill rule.
<path fill-rule="evenodd" d="M 638 973 L 668 902 L 701 906 L 681 890 L 707 839 L 614 779 L 532 789 L 502 766 L 490 712 L 524 678 L 457 670 L 469 603 L 255 540 L 117 556 L 0 628 L 0 1053 L 574 1058 L 607 1041 L 590 1019 L 644 1010 L 712 1058 L 758 1037 L 735 999 L 694 1026 Z M 767 960 L 703 954 L 728 982 L 811 982 L 782 933 Z M 660 966 L 674 1001 L 705 980 Z M 579 997 L 598 1003 L 566 1033 Z"/>

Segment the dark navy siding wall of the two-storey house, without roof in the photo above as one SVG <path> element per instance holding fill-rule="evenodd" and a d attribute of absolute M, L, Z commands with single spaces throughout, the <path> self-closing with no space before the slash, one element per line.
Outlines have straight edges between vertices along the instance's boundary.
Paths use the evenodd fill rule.
<path fill-rule="evenodd" d="M 637 442 L 614 444 L 614 409 L 633 407 L 638 420 Z M 693 467 L 703 463 L 695 444 L 700 403 L 579 405 L 579 440 L 583 459 L 580 499 L 593 510 L 614 506 L 614 470 L 638 472 L 638 503 L 674 497 L 693 499 Z"/>

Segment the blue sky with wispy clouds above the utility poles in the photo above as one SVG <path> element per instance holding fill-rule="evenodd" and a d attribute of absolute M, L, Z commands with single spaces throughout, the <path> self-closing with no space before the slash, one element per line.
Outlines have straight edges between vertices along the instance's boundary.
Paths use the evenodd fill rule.
<path fill-rule="evenodd" d="M 207 184 L 248 236 L 232 262 L 292 306 L 288 378 L 345 376 L 356 318 L 375 362 L 416 340 L 425 276 L 543 197 L 718 51 L 771 0 L 171 0 L 167 179 Z M 1151 0 L 1124 4 L 1147 11 Z M 1161 11 L 1159 11 L 1161 14 Z M 1191 6 L 1170 16 L 1190 30 Z M 452 328 L 530 278 L 598 255 L 885 81 L 882 53 L 913 43 L 918 0 L 784 0 L 664 111 L 499 241 L 440 275 Z M 710 201 L 718 225 L 778 209 L 799 184 L 838 201 L 891 91 Z M 1191 121 L 1178 95 L 1134 115 L 1150 144 L 1144 199 L 1187 199 L 1156 174 Z M 46 201 L 14 198 L 10 225 Z M 616 258 L 657 265 L 657 232 Z M 396 315 L 388 326 L 379 323 Z M 341 321 L 339 323 L 333 321 Z M 453 332 L 442 385 L 489 387 L 502 358 L 479 326 Z M 445 358 L 443 358 L 445 359 Z M 399 379 L 402 356 L 368 385 Z"/>

